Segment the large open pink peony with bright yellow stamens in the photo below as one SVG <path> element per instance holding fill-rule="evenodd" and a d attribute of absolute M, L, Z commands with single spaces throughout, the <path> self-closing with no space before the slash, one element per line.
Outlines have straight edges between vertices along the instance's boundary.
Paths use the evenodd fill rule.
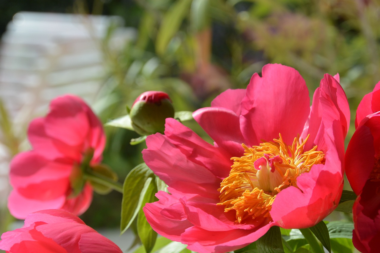
<path fill-rule="evenodd" d="M 146 139 L 146 164 L 169 192 L 146 204 L 152 228 L 196 252 L 227 252 L 270 227 L 307 228 L 336 208 L 350 122 L 339 76 L 325 74 L 310 108 L 298 71 L 268 64 L 247 89 L 193 113 L 211 145 L 174 119 Z"/>

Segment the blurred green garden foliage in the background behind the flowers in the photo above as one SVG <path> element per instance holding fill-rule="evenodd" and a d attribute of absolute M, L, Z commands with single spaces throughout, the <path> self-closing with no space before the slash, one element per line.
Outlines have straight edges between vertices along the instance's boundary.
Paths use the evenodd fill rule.
<path fill-rule="evenodd" d="M 194 111 L 223 90 L 245 88 L 266 63 L 282 63 L 301 73 L 310 96 L 323 74 L 340 74 L 352 112 L 348 143 L 359 101 L 380 80 L 379 0 L 14 0 L 0 9 L 0 32 L 18 11 L 116 15 L 135 31 L 121 50 L 112 25 L 101 42 L 106 71 L 93 106 L 103 122 L 125 115 L 147 90 L 168 93 L 176 111 Z M 1 123 L 14 154 L 24 136 L 8 134 L 5 116 Z M 195 122 L 186 125 L 207 138 Z M 124 179 L 142 162 L 144 144 L 131 146 L 138 135 L 123 128 L 106 133 L 103 161 Z M 119 226 L 121 197 L 95 196 L 81 218 L 94 228 Z"/>

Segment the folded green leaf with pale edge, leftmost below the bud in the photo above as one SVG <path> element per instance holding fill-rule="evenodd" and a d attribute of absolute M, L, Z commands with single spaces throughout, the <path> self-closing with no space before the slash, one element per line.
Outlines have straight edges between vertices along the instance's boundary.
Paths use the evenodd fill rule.
<path fill-rule="evenodd" d="M 125 178 L 123 184 L 123 199 L 121 206 L 121 233 L 125 232 L 136 218 L 142 203 L 142 198 L 145 196 L 143 189 L 146 190 L 146 181 L 148 178 L 153 177 L 153 172 L 146 166 L 145 163 L 141 163 L 133 168 L 128 176 Z"/>

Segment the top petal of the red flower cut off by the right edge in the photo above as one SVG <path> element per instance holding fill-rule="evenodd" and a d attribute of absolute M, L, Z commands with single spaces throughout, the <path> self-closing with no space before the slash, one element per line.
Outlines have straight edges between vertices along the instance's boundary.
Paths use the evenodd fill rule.
<path fill-rule="evenodd" d="M 380 111 L 380 82 L 378 82 L 374 90 L 363 97 L 356 110 L 355 128 L 359 123 L 367 117 L 367 115 Z"/>

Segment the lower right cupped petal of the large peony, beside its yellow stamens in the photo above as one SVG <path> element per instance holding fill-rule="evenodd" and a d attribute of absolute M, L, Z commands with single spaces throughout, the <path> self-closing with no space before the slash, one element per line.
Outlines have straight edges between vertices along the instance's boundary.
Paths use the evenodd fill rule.
<path fill-rule="evenodd" d="M 343 189 L 342 166 L 332 146 L 325 158 L 325 164 L 316 164 L 297 177 L 298 188 L 291 186 L 276 195 L 270 214 L 282 228 L 309 228 L 337 207 Z"/>

